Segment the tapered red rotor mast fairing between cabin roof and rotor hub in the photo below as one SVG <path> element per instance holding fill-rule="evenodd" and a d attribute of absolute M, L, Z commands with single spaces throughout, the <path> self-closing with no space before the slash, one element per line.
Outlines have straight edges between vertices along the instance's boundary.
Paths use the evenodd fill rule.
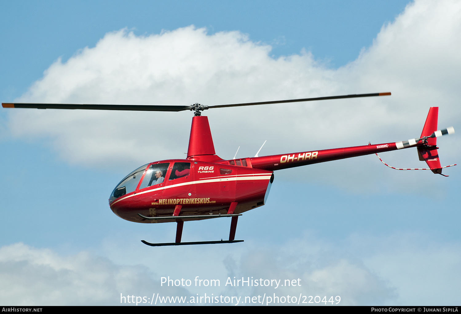
<path fill-rule="evenodd" d="M 196 116 L 192 118 L 187 157 L 214 154 L 213 138 L 211 137 L 208 117 Z"/>

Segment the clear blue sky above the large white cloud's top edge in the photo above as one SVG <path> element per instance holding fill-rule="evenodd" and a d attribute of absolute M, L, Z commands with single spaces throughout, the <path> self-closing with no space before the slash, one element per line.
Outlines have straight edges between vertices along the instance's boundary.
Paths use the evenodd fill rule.
<path fill-rule="evenodd" d="M 273 45 L 272 55 L 312 51 L 316 59 L 345 65 L 408 1 L 29 1 L 2 4 L 0 67 L 3 101 L 22 95 L 58 57 L 94 47 L 106 32 L 135 34 L 195 25 L 209 33 L 240 30 Z M 20 66 L 18 66 L 18 63 Z M 7 99 L 7 100 L 5 100 Z M 9 100 L 8 100 L 9 99 Z"/>

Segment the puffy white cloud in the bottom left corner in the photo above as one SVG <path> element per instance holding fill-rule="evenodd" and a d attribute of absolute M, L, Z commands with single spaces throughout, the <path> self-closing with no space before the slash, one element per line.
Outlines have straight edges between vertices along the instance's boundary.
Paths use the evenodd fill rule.
<path fill-rule="evenodd" d="M 0 248 L 2 304 L 117 305 L 120 293 L 145 296 L 158 285 L 145 266 L 118 266 L 84 251 L 61 256 L 23 243 Z"/>

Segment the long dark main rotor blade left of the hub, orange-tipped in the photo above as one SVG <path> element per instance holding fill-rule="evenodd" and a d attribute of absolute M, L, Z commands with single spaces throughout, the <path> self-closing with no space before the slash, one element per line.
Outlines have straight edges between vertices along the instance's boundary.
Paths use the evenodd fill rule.
<path fill-rule="evenodd" d="M 25 104 L 2 103 L 4 108 L 37 108 L 37 109 L 93 109 L 93 110 L 130 110 L 130 111 L 183 111 L 190 106 L 157 106 L 157 105 L 81 105 L 81 104 Z"/>

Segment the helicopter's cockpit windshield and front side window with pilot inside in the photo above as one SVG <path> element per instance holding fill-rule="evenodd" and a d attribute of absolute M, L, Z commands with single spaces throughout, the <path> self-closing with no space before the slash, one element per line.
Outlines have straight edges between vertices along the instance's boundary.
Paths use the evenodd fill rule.
<path fill-rule="evenodd" d="M 142 174 L 146 171 L 144 178 L 142 179 L 139 189 L 147 188 L 156 184 L 160 184 L 165 179 L 166 171 L 168 170 L 169 162 L 161 164 L 147 164 L 137 168 L 126 176 L 117 187 L 112 191 L 109 201 L 115 201 L 120 196 L 134 192 L 139 184 L 139 180 L 142 178 Z M 146 167 L 148 167 L 146 169 Z"/>

